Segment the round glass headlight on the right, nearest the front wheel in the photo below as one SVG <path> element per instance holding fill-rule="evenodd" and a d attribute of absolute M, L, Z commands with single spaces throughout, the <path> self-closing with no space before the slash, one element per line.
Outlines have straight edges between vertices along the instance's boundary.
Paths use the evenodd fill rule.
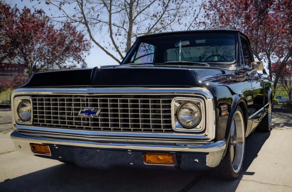
<path fill-rule="evenodd" d="M 193 128 L 201 121 L 201 110 L 197 104 L 185 102 L 178 109 L 178 121 L 186 128 Z"/>

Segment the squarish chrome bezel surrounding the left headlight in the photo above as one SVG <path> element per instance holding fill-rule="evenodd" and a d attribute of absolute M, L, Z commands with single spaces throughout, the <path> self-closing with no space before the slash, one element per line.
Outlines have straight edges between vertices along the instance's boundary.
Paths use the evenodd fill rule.
<path fill-rule="evenodd" d="M 23 121 L 19 115 L 18 115 L 18 106 L 22 101 L 29 101 L 30 106 L 31 106 L 31 117 L 27 121 Z M 32 116 L 33 116 L 33 110 L 32 110 L 32 97 L 30 96 L 18 96 L 14 98 L 14 117 L 15 117 L 15 122 L 17 124 L 23 124 L 23 125 L 31 125 L 32 124 Z"/>

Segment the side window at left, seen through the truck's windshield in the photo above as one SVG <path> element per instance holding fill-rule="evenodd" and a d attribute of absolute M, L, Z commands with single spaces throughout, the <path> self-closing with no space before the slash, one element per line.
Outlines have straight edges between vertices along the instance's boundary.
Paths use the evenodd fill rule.
<path fill-rule="evenodd" d="M 135 59 L 134 57 L 132 57 L 131 63 L 153 63 L 154 52 L 154 45 L 142 42 L 140 43 L 138 50 L 134 54 Z"/>

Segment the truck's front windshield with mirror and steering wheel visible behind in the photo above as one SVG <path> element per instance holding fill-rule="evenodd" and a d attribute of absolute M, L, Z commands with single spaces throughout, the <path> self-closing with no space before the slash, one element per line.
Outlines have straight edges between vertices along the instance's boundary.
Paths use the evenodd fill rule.
<path fill-rule="evenodd" d="M 138 39 L 123 64 L 161 64 L 172 61 L 232 63 L 234 34 L 185 34 Z"/>

